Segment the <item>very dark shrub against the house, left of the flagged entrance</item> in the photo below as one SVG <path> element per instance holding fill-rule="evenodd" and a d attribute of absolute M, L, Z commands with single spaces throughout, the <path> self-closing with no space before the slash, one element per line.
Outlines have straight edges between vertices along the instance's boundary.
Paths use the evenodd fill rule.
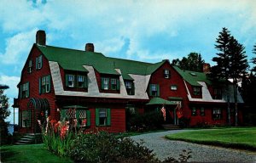
<path fill-rule="evenodd" d="M 161 129 L 163 124 L 163 115 L 161 112 L 150 111 L 143 114 L 131 115 L 127 123 L 130 124 L 129 131 L 145 132 L 148 130 Z"/>

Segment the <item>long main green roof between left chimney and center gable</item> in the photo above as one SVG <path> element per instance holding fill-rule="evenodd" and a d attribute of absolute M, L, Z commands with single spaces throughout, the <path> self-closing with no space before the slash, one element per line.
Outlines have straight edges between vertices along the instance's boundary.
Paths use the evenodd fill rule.
<path fill-rule="evenodd" d="M 133 80 L 129 74 L 149 75 L 157 70 L 165 61 L 150 64 L 128 59 L 115 59 L 104 56 L 102 53 L 85 52 L 69 48 L 51 46 L 36 46 L 44 53 L 49 61 L 55 61 L 64 70 L 87 71 L 83 65 L 93 66 L 99 73 L 119 75 L 115 69 L 120 69 L 125 80 Z"/>

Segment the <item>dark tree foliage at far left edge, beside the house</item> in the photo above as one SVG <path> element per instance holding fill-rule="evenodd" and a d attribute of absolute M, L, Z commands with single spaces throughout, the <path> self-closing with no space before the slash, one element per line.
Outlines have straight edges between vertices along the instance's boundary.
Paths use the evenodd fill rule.
<path fill-rule="evenodd" d="M 9 122 L 5 121 L 5 119 L 10 115 L 8 100 L 9 98 L 6 95 L 3 95 L 3 89 L 0 89 L 0 145 L 10 143 L 10 135 L 8 132 Z"/>

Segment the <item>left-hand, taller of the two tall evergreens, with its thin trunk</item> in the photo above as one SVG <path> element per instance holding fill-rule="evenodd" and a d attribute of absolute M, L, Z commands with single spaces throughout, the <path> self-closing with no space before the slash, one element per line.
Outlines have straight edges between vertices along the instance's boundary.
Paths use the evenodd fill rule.
<path fill-rule="evenodd" d="M 228 111 L 228 124 L 231 125 L 230 119 L 230 89 L 229 89 L 229 78 L 230 78 L 230 31 L 227 28 L 223 28 L 219 32 L 218 38 L 216 39 L 215 48 L 218 50 L 216 53 L 218 56 L 213 57 L 212 61 L 216 62 L 217 65 L 212 66 L 211 77 L 213 80 L 224 79 L 226 85 L 227 95 L 227 111 Z"/>

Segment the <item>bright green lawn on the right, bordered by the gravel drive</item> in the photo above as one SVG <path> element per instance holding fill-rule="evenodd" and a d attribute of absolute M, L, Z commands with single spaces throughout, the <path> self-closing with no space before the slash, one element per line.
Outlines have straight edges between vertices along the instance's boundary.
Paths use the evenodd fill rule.
<path fill-rule="evenodd" d="M 235 149 L 256 149 L 256 127 L 195 130 L 193 132 L 166 135 L 166 138 Z"/>

